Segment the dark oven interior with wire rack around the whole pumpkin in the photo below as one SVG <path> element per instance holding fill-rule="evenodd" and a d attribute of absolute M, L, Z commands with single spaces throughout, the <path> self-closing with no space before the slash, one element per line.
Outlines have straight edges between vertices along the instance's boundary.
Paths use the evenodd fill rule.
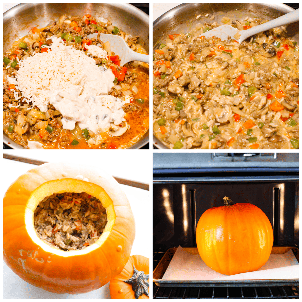
<path fill-rule="evenodd" d="M 196 247 L 205 210 L 255 204 L 267 215 L 273 246 L 299 248 L 297 153 L 153 153 L 153 270 L 167 249 Z M 153 298 L 298 298 L 298 286 L 158 287 Z M 270 286 L 271 285 L 271 286 Z"/>

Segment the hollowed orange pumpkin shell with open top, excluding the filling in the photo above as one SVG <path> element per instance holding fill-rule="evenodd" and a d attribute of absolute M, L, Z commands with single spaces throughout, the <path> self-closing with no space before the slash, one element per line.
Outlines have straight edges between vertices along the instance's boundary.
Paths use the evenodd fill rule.
<path fill-rule="evenodd" d="M 63 192 L 86 192 L 106 208 L 104 232 L 85 249 L 56 249 L 34 228 L 39 202 Z M 46 163 L 20 176 L 5 193 L 3 216 L 5 263 L 24 281 L 53 293 L 82 294 L 108 283 L 126 265 L 135 237 L 130 204 L 118 183 L 84 165 Z"/>

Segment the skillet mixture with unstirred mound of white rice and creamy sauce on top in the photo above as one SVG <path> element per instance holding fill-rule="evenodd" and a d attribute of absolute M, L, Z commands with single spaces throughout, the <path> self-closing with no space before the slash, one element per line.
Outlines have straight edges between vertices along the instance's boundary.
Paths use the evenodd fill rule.
<path fill-rule="evenodd" d="M 149 129 L 149 70 L 120 66 L 99 34 L 145 53 L 138 36 L 90 14 L 63 15 L 13 43 L 3 57 L 5 135 L 27 149 L 126 149 L 140 140 Z"/>

